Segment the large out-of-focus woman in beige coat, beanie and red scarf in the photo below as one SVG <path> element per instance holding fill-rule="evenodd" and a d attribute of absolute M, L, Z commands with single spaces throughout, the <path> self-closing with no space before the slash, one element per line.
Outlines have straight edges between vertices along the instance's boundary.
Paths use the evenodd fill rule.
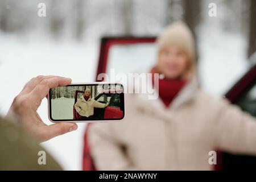
<path fill-rule="evenodd" d="M 182 22 L 158 40 L 159 99 L 126 94 L 123 122 L 89 127 L 97 169 L 213 169 L 213 150 L 256 154 L 256 120 L 199 88 L 195 43 Z M 154 84 L 154 83 L 153 83 Z"/>

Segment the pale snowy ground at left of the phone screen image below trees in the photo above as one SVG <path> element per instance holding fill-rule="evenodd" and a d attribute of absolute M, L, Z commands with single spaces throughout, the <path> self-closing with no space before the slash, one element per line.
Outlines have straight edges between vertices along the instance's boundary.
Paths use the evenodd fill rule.
<path fill-rule="evenodd" d="M 51 100 L 52 119 L 73 119 L 75 98 L 55 98 Z"/>

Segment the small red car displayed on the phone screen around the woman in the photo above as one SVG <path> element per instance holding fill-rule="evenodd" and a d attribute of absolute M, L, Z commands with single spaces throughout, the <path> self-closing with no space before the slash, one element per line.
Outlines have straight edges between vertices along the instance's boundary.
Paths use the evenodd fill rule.
<path fill-rule="evenodd" d="M 82 97 L 84 91 L 76 90 L 75 103 L 73 106 L 73 119 L 79 119 L 81 116 L 75 109 L 77 99 Z M 94 100 L 106 104 L 109 101 L 109 105 L 105 108 L 94 107 L 95 119 L 120 119 L 123 118 L 123 93 L 122 89 L 104 90 Z"/>

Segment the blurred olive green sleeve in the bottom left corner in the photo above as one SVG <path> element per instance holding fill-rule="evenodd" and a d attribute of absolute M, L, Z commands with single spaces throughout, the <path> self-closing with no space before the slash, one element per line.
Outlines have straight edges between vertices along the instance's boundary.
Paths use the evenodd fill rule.
<path fill-rule="evenodd" d="M 60 165 L 34 137 L 2 118 L 0 144 L 0 170 L 61 170 Z M 44 156 L 46 160 L 43 160 Z M 39 164 L 42 161 L 46 164 Z"/>

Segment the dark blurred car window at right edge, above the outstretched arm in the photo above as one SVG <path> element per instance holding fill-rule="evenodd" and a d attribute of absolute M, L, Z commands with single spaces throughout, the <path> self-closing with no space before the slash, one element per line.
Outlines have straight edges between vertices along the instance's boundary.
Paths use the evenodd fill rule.
<path fill-rule="evenodd" d="M 242 110 L 256 117 L 256 84 L 237 103 Z"/>

